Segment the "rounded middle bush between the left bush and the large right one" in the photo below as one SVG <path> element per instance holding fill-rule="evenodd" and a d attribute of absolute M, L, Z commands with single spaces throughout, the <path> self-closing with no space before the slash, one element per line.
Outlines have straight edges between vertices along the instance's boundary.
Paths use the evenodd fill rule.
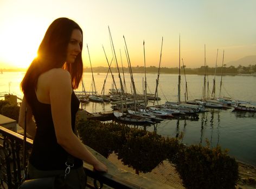
<path fill-rule="evenodd" d="M 165 139 L 156 133 L 131 129 L 126 143 L 118 150 L 118 159 L 138 172 L 150 172 L 166 159 Z"/>

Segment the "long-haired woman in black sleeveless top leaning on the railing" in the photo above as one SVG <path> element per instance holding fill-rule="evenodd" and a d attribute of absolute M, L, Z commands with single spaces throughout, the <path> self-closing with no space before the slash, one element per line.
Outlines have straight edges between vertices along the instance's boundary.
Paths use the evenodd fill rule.
<path fill-rule="evenodd" d="M 29 178 L 65 172 L 71 154 L 74 167 L 66 181 L 72 188 L 85 187 L 83 160 L 107 172 L 73 132 L 79 108 L 73 90 L 79 86 L 83 69 L 82 37 L 80 26 L 71 19 L 57 18 L 50 24 L 21 83 L 24 98 L 18 122 L 24 128 L 26 120 L 27 132 L 34 138 Z"/>

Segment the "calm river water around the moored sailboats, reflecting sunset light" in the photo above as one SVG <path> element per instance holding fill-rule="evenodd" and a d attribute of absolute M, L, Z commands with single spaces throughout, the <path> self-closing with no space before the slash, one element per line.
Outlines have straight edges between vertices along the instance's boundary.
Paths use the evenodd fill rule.
<path fill-rule="evenodd" d="M 4 72 L 0 75 L 0 92 L 7 91 L 22 96 L 20 82 L 24 72 Z M 121 75 L 123 78 L 123 75 Z M 143 91 L 143 73 L 133 73 L 137 93 Z M 202 97 L 203 77 L 187 75 L 189 100 Z M 98 93 L 103 89 L 106 73 L 94 73 L 95 85 Z M 212 91 L 214 76 L 208 76 L 209 89 Z M 118 74 L 114 73 L 117 87 L 120 88 Z M 148 93 L 155 93 L 156 73 L 147 73 Z M 92 74 L 84 73 L 83 80 L 86 91 L 92 91 Z M 216 96 L 219 97 L 220 76 L 216 76 Z M 124 82 L 123 82 L 124 83 Z M 125 73 L 127 92 L 131 91 L 131 79 Z M 108 75 L 105 84 L 105 93 L 113 85 Z M 159 76 L 158 96 L 162 98 L 159 104 L 167 100 L 177 102 L 178 75 L 162 74 Z M 181 100 L 184 100 L 185 79 L 181 76 Z M 81 86 L 78 90 L 81 90 Z M 223 76 L 221 96 L 232 97 L 239 100 L 256 102 L 256 77 L 254 76 Z M 152 104 L 152 103 L 151 103 Z M 109 103 L 89 103 L 84 108 L 89 112 L 111 110 Z M 221 145 L 222 149 L 229 149 L 229 155 L 247 164 L 256 165 L 256 113 L 239 112 L 233 109 L 208 109 L 208 112 L 199 113 L 199 119 L 167 119 L 155 125 L 158 134 L 164 137 L 176 137 L 184 133 L 182 142 L 185 144 L 206 144 L 210 146 Z M 146 130 L 153 131 L 154 126 L 147 126 Z"/>

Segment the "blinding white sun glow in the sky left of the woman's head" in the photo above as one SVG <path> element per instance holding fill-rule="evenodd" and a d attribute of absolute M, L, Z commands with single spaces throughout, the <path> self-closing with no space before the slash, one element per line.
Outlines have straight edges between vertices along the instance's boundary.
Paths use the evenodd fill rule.
<path fill-rule="evenodd" d="M 28 68 L 37 56 L 37 48 L 41 42 L 45 29 L 36 22 L 15 20 L 4 23 L 0 31 L 0 67 L 2 68 Z"/>

